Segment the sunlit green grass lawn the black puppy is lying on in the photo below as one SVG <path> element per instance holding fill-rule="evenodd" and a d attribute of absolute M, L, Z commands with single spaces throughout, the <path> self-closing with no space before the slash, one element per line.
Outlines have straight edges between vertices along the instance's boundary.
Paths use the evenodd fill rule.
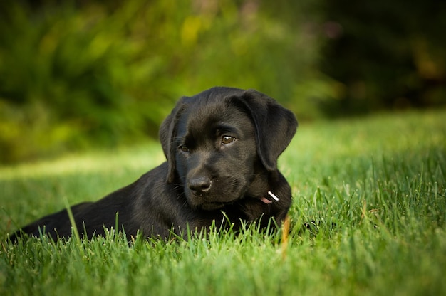
<path fill-rule="evenodd" d="M 0 169 L 0 295 L 445 295 L 446 110 L 302 124 L 291 233 L 5 243 L 163 161 L 158 144 Z M 308 227 L 304 227 L 304 226 Z"/>

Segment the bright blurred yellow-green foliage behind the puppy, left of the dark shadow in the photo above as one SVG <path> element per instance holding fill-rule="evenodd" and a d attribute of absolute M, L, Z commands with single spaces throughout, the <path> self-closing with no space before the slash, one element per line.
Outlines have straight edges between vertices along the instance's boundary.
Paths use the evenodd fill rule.
<path fill-rule="evenodd" d="M 156 137 L 178 97 L 215 85 L 298 110 L 318 40 L 279 2 L 0 4 L 0 163 Z"/>

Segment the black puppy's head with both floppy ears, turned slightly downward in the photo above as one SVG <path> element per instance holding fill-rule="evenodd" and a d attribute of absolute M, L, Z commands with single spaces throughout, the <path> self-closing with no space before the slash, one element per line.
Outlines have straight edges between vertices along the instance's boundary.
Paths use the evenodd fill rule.
<path fill-rule="evenodd" d="M 256 90 L 211 88 L 182 97 L 160 127 L 167 182 L 184 184 L 190 206 L 208 210 L 255 195 L 254 179 L 277 171 L 296 127 L 292 112 Z M 254 191 L 266 193 L 263 186 Z"/>

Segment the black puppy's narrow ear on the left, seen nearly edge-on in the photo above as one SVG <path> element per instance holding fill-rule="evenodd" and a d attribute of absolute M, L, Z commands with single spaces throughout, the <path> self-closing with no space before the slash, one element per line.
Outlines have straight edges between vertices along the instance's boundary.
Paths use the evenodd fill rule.
<path fill-rule="evenodd" d="M 187 98 L 188 97 L 182 97 L 177 102 L 175 108 L 173 108 L 170 115 L 166 117 L 160 126 L 160 142 L 168 164 L 167 183 L 172 183 L 175 180 L 175 153 L 177 149 L 177 147 L 175 147 L 175 137 L 177 136 L 178 119 L 186 109 L 185 101 Z"/>

